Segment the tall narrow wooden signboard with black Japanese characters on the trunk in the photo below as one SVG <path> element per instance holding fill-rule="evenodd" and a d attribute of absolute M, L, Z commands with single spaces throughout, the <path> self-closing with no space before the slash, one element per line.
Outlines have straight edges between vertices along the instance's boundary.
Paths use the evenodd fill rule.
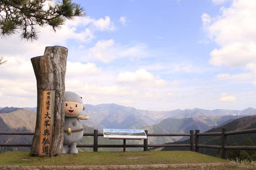
<path fill-rule="evenodd" d="M 55 90 L 43 90 L 39 156 L 49 156 L 52 149 Z"/>

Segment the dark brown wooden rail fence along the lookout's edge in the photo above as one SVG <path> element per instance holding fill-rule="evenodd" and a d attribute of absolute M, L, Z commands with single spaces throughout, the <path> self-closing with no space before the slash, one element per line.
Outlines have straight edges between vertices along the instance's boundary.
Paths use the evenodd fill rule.
<path fill-rule="evenodd" d="M 98 136 L 103 136 L 103 133 L 98 133 L 98 130 L 94 130 L 94 133 L 84 133 L 84 136 L 94 136 L 93 145 L 76 145 L 76 147 L 90 147 L 93 148 L 94 152 L 98 151 L 98 148 L 125 148 L 126 147 L 142 147 L 144 151 L 148 151 L 149 147 L 190 147 L 190 151 L 199 152 L 199 148 L 214 148 L 222 149 L 222 158 L 227 159 L 227 150 L 256 150 L 256 146 L 227 146 L 227 136 L 228 135 L 239 135 L 239 134 L 250 134 L 256 133 L 256 129 L 239 130 L 239 131 L 227 131 L 227 128 L 222 128 L 222 132 L 210 132 L 210 133 L 200 133 L 200 130 L 196 130 L 194 134 L 193 130 L 190 130 L 189 134 L 148 134 L 145 130 L 146 135 L 150 136 L 190 136 L 190 144 L 162 144 L 162 145 L 148 145 L 148 139 L 144 139 L 143 145 L 99 145 Z M 34 135 L 34 132 L 0 132 L 0 135 Z M 194 139 L 195 136 L 195 139 Z M 222 146 L 218 145 L 201 145 L 199 144 L 199 136 L 222 136 Z M 195 141 L 195 144 L 194 144 Z M 20 143 L 0 143 L 0 146 L 12 146 L 12 147 L 31 147 L 31 144 L 20 144 Z"/>

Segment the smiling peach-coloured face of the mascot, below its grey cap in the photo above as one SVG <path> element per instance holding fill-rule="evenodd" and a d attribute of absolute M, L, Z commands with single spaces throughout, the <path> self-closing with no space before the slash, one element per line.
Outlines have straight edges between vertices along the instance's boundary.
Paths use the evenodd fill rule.
<path fill-rule="evenodd" d="M 78 117 L 83 110 L 83 104 L 79 102 L 65 101 L 65 116 Z"/>

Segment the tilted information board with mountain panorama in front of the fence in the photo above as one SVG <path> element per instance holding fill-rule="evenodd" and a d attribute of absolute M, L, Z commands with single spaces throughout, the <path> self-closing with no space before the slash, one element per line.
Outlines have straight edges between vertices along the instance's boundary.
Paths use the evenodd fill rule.
<path fill-rule="evenodd" d="M 145 130 L 103 129 L 103 137 L 110 139 L 147 139 Z"/>

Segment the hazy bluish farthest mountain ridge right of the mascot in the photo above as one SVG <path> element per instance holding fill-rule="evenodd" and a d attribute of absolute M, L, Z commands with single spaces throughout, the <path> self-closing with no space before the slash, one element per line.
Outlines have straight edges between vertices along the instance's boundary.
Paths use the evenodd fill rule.
<path fill-rule="evenodd" d="M 219 119 L 224 115 L 245 116 L 255 115 L 256 109 L 247 108 L 238 110 L 205 110 L 205 109 L 185 109 L 174 111 L 145 111 L 133 107 L 124 107 L 117 104 L 99 104 L 96 106 L 86 104 L 86 109 L 82 114 L 87 114 L 90 119 L 82 121 L 87 126 L 94 129 L 112 128 L 112 129 L 139 129 L 145 126 L 154 125 L 167 118 L 190 118 L 197 117 L 203 119 Z M 228 119 L 226 119 L 228 120 Z M 221 122 L 223 123 L 223 122 Z M 212 125 L 216 126 L 220 122 Z M 210 123 L 209 123 L 210 125 Z M 209 129 L 207 129 L 209 130 Z"/>

